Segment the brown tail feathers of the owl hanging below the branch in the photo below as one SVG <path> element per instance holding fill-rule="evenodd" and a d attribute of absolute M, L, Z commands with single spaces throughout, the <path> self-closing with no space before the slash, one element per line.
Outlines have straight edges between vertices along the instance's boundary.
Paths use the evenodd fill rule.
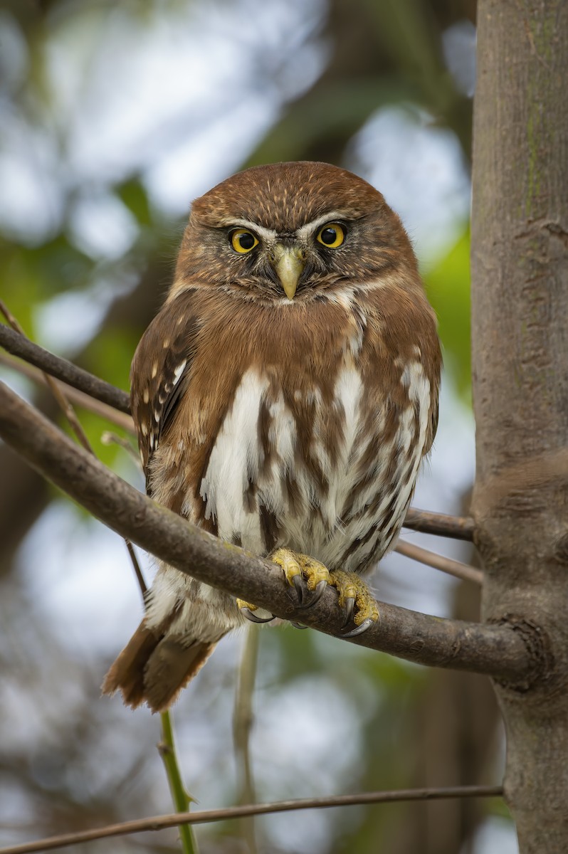
<path fill-rule="evenodd" d="M 146 703 L 151 711 L 166 711 L 201 670 L 222 636 L 214 642 L 186 637 L 182 642 L 149 629 L 143 620 L 104 677 L 102 693 L 120 690 L 132 709 Z"/>

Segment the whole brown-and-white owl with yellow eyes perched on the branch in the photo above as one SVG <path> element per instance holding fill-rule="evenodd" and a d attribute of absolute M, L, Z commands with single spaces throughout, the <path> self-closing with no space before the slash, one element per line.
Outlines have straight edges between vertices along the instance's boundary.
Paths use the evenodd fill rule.
<path fill-rule="evenodd" d="M 395 543 L 436 432 L 436 318 L 401 220 L 325 163 L 237 173 L 198 198 L 173 285 L 132 361 L 148 494 L 269 556 L 302 606 L 327 584 L 343 636 Z M 166 564 L 103 684 L 173 703 L 217 642 L 265 617 Z"/>

